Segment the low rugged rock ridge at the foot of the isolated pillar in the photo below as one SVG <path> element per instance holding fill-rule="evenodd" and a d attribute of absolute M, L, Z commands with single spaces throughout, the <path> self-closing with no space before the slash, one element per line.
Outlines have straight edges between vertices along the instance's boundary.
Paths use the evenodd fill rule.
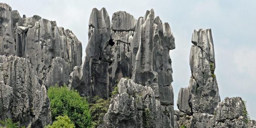
<path fill-rule="evenodd" d="M 213 114 L 186 113 L 175 111 L 175 128 L 181 125 L 187 128 L 254 128 L 255 120 L 250 120 L 245 113 L 245 103 L 240 97 L 225 98 L 219 102 Z"/>

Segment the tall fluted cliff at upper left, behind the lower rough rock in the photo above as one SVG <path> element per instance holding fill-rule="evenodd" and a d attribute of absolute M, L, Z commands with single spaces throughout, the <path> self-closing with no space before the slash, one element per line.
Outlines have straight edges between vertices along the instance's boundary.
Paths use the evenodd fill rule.
<path fill-rule="evenodd" d="M 21 18 L 5 3 L 0 3 L 0 19 L 0 55 L 28 59 L 46 87 L 68 84 L 73 68 L 82 63 L 82 45 L 72 31 L 38 15 Z"/>

